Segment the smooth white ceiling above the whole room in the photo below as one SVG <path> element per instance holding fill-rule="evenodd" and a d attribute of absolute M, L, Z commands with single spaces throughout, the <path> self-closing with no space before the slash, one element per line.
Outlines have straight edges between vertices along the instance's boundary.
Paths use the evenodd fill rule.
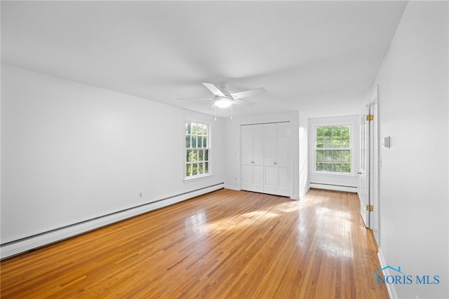
<path fill-rule="evenodd" d="M 213 114 L 359 113 L 405 1 L 1 1 L 5 64 Z M 229 116 L 229 109 L 219 116 Z"/>

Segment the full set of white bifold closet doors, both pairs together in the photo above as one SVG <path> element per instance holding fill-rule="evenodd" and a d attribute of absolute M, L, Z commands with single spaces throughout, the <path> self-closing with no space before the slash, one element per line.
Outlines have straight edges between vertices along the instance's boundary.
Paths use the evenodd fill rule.
<path fill-rule="evenodd" d="M 290 196 L 290 122 L 241 125 L 241 190 Z"/>

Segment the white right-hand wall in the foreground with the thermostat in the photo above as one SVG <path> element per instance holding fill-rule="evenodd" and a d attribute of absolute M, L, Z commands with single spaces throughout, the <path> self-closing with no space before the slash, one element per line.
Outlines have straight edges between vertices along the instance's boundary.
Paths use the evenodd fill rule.
<path fill-rule="evenodd" d="M 379 85 L 380 253 L 439 284 L 396 284 L 398 298 L 449 298 L 448 1 L 410 1 Z M 433 280 L 433 279 L 432 279 Z"/>

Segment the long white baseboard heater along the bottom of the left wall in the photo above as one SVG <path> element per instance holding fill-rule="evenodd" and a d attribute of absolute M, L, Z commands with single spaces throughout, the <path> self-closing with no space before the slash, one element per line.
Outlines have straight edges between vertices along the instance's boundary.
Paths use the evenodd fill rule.
<path fill-rule="evenodd" d="M 11 256 L 18 255 L 19 253 L 24 253 L 26 251 L 39 248 L 41 246 L 46 246 L 48 244 L 61 241 L 63 239 L 68 239 L 69 237 L 81 235 L 84 232 L 95 230 L 105 225 L 109 225 L 118 221 L 123 221 L 127 218 L 138 216 L 140 214 L 153 211 L 155 209 L 168 207 L 171 204 L 176 204 L 177 202 L 189 200 L 192 197 L 196 197 L 199 195 L 210 193 L 215 190 L 222 189 L 224 185 L 225 185 L 224 183 L 218 183 L 217 185 L 214 186 L 209 186 L 206 188 L 193 190 L 187 193 L 182 193 L 180 195 L 163 198 L 161 200 L 156 200 L 155 202 L 142 204 L 138 207 L 133 207 L 123 211 L 118 211 L 113 214 L 100 216 L 98 218 L 94 218 L 88 221 L 82 221 L 81 223 L 67 225 L 64 228 L 51 230 L 49 232 L 43 232 L 39 235 L 19 239 L 13 242 L 7 242 L 6 244 L 2 244 L 0 247 L 0 259 L 9 258 Z"/>

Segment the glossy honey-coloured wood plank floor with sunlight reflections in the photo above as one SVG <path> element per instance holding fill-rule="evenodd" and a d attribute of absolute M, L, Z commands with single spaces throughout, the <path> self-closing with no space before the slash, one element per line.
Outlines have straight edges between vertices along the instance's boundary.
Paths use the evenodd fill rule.
<path fill-rule="evenodd" d="M 218 190 L 1 262 L 1 298 L 388 298 L 354 193 Z"/>

